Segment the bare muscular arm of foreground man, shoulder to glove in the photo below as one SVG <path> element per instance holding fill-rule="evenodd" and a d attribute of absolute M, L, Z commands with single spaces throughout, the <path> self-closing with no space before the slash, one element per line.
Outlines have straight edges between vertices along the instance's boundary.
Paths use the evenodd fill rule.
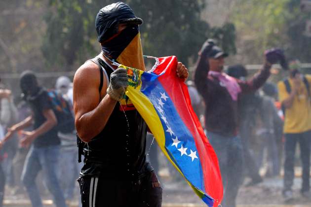
<path fill-rule="evenodd" d="M 99 75 L 98 66 L 89 61 L 77 70 L 74 77 L 75 124 L 78 136 L 84 142 L 90 141 L 104 129 L 117 103 L 106 94 L 105 76 L 101 95 L 99 94 Z M 104 98 L 101 100 L 101 97 Z"/>

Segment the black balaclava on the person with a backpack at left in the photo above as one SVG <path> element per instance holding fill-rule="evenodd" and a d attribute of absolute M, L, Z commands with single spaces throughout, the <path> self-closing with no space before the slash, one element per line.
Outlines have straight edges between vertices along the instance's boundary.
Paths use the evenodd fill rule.
<path fill-rule="evenodd" d="M 35 96 L 39 92 L 37 77 L 33 71 L 24 71 L 20 76 L 19 83 L 23 98 L 25 99 L 30 96 Z"/>

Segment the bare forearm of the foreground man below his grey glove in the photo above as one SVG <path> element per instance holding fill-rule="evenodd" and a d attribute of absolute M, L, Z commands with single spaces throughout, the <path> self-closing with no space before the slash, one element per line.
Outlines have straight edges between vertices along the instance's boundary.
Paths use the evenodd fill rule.
<path fill-rule="evenodd" d="M 104 129 L 116 103 L 117 101 L 107 94 L 95 109 L 76 120 L 78 136 L 84 142 L 90 141 Z"/>

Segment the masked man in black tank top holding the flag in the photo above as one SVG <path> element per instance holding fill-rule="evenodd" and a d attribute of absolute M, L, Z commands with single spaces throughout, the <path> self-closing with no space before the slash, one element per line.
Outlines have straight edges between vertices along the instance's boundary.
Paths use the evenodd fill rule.
<path fill-rule="evenodd" d="M 124 95 L 126 70 L 115 65 L 145 70 L 142 23 L 123 2 L 100 9 L 95 26 L 102 52 L 74 77 L 78 145 L 84 155 L 78 179 L 82 207 L 161 206 L 162 188 L 146 162 L 147 125 Z M 182 63 L 176 75 L 188 77 Z"/>

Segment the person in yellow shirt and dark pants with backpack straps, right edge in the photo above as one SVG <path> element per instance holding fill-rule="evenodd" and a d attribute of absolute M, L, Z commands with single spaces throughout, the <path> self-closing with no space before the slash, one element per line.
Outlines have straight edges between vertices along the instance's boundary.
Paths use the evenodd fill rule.
<path fill-rule="evenodd" d="M 296 144 L 300 146 L 302 162 L 303 197 L 311 198 L 310 194 L 310 138 L 311 138 L 311 75 L 303 75 L 297 62 L 291 62 L 290 74 L 285 80 L 279 81 L 279 101 L 284 110 L 285 162 L 283 197 L 285 201 L 293 199 L 292 185 L 295 176 L 294 163 Z"/>

